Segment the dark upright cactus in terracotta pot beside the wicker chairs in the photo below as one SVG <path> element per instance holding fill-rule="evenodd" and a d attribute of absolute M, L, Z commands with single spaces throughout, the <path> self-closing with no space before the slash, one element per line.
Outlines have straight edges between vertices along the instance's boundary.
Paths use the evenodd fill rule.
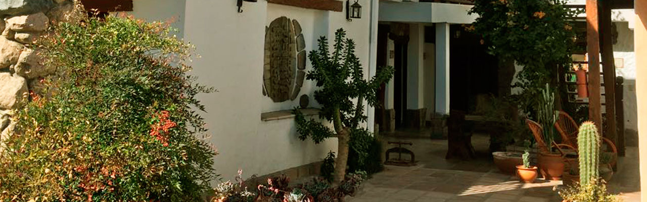
<path fill-rule="evenodd" d="M 558 111 L 553 109 L 555 96 L 548 84 L 542 89 L 538 112 L 539 123 L 543 128 L 543 141 L 546 143 L 545 150 L 539 152 L 537 161 L 545 179 L 559 180 L 564 174 L 564 161 L 562 154 L 554 152 L 553 141 L 555 131 L 553 125 L 558 118 Z"/>

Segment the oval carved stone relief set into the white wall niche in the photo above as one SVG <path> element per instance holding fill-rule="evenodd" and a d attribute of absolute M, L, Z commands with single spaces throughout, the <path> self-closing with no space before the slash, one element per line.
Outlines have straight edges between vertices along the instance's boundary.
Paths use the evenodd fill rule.
<path fill-rule="evenodd" d="M 296 19 L 279 17 L 265 28 L 263 95 L 274 102 L 294 100 L 305 78 L 305 39 Z"/>

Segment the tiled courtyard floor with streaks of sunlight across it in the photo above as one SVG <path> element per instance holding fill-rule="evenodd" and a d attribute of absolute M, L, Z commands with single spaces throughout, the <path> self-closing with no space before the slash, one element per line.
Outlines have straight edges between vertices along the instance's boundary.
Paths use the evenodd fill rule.
<path fill-rule="evenodd" d="M 349 199 L 364 201 L 474 201 L 474 202 L 542 202 L 562 201 L 555 188 L 562 181 L 520 183 L 512 175 L 501 174 L 487 157 L 487 136 L 476 135 L 472 144 L 479 157 L 472 161 L 444 159 L 446 140 L 428 138 L 385 137 L 388 140 L 408 140 L 415 152 L 417 166 L 386 166 L 364 184 L 362 192 Z M 637 179 L 637 149 L 628 148 L 627 156 L 619 161 L 619 172 L 609 182 L 609 191 L 620 194 L 624 201 L 639 201 Z"/>

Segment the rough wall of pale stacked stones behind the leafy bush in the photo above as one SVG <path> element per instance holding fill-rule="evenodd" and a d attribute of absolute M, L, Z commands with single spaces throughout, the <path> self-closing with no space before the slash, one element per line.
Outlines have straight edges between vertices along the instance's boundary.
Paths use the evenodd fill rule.
<path fill-rule="evenodd" d="M 73 7 L 71 0 L 0 0 L 0 139 L 14 130 L 16 109 L 30 93 L 39 93 L 41 78 L 56 71 L 42 65 L 40 50 L 27 45 Z"/>

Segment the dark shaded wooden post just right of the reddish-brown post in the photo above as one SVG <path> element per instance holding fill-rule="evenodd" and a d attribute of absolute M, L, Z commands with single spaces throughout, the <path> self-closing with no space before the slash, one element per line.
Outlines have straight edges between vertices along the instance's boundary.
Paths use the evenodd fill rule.
<path fill-rule="evenodd" d="M 600 1 L 600 46 L 604 72 L 604 100 L 606 128 L 604 137 L 617 145 L 615 122 L 615 62 L 613 61 L 613 36 L 611 36 L 611 1 Z"/>

